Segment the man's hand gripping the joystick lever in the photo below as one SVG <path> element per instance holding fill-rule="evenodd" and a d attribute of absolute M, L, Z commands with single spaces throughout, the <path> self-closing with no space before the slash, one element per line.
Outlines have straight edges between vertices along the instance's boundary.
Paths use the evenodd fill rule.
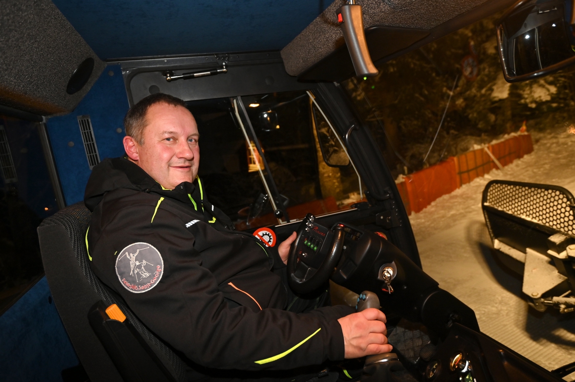
<path fill-rule="evenodd" d="M 347 359 L 392 351 L 393 346 L 388 344 L 386 337 L 385 314 L 380 310 L 369 308 L 342 317 L 338 322 L 342 326 Z"/>

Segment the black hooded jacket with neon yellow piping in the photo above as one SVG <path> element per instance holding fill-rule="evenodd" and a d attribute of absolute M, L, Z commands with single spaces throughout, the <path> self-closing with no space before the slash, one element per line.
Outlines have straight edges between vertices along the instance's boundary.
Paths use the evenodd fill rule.
<path fill-rule="evenodd" d="M 198 182 L 164 190 L 125 158 L 94 167 L 85 194 L 94 273 L 198 365 L 279 370 L 343 360 L 337 319 L 352 308 L 284 311 L 277 249 L 234 231 Z"/>

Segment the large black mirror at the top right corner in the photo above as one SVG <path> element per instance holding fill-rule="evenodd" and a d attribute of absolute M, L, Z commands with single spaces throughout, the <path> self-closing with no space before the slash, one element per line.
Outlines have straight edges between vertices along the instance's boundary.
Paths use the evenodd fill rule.
<path fill-rule="evenodd" d="M 497 25 L 507 82 L 539 78 L 575 63 L 575 0 L 520 0 Z"/>

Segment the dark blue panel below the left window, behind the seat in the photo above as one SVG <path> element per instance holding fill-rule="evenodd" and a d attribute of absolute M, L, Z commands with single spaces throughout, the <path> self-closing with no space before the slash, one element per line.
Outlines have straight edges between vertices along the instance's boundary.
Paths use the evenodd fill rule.
<path fill-rule="evenodd" d="M 43 277 L 0 316 L 0 380 L 62 382 L 63 369 L 78 365 Z"/>

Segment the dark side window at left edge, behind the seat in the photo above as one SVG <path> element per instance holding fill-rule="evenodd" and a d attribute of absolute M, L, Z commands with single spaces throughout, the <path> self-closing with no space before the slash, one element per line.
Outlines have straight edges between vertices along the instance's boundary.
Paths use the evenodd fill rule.
<path fill-rule="evenodd" d="M 43 276 L 36 228 L 58 210 L 40 128 L 0 115 L 0 314 Z"/>

